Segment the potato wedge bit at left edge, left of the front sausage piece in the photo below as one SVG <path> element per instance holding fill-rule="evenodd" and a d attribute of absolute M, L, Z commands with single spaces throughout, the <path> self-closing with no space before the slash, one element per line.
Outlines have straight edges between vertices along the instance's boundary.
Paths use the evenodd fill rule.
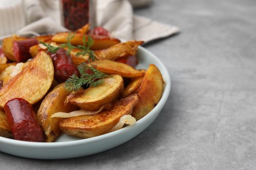
<path fill-rule="evenodd" d="M 5 112 L 0 110 L 0 136 L 1 137 L 12 137 L 11 129 L 7 123 Z"/>

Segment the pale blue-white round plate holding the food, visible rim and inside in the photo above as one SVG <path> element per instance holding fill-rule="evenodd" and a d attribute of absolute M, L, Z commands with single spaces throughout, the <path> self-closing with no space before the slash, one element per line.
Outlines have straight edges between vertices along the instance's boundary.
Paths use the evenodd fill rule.
<path fill-rule="evenodd" d="M 161 109 L 163 109 L 171 90 L 171 78 L 160 59 L 145 48 L 139 47 L 138 58 L 139 69 L 147 69 L 150 63 L 154 63 L 160 69 L 163 80 L 165 81 L 165 89 L 158 105 L 144 116 L 144 118 L 137 121 L 134 126 L 127 126 L 123 129 L 90 139 L 79 139 L 69 135 L 62 135 L 55 143 L 34 143 L 0 137 L 0 151 L 34 159 L 54 160 L 76 158 L 114 148 L 139 135 L 139 133 L 155 120 Z"/>

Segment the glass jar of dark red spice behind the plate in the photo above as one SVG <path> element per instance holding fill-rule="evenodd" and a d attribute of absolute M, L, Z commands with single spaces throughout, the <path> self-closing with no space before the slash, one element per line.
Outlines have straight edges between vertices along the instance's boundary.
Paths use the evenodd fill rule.
<path fill-rule="evenodd" d="M 62 25 L 75 31 L 90 23 L 95 26 L 96 0 L 60 0 L 62 11 Z"/>

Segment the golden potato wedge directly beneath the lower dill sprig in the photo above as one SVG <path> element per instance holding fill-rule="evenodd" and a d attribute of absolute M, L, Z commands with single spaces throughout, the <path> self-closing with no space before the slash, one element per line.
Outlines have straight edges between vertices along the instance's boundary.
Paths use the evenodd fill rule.
<path fill-rule="evenodd" d="M 116 101 L 123 92 L 123 78 L 119 75 L 111 75 L 104 78 L 104 83 L 86 90 L 79 90 L 68 95 L 66 103 L 72 103 L 84 110 L 98 110 L 107 103 Z"/>

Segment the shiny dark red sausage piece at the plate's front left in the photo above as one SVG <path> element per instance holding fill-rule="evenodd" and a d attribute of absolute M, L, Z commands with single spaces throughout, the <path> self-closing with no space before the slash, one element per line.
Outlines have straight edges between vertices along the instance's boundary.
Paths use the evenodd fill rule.
<path fill-rule="evenodd" d="M 22 98 L 11 99 L 5 104 L 4 110 L 14 139 L 32 142 L 45 140 L 33 107 L 28 101 Z"/>

